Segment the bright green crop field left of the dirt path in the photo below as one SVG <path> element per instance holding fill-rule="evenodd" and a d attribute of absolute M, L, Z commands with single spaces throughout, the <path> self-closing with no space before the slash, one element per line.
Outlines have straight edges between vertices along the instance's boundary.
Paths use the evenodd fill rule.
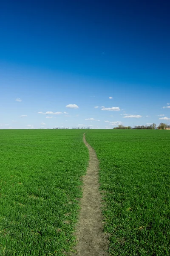
<path fill-rule="evenodd" d="M 71 249 L 89 157 L 83 132 L 0 130 L 0 256 Z"/>

